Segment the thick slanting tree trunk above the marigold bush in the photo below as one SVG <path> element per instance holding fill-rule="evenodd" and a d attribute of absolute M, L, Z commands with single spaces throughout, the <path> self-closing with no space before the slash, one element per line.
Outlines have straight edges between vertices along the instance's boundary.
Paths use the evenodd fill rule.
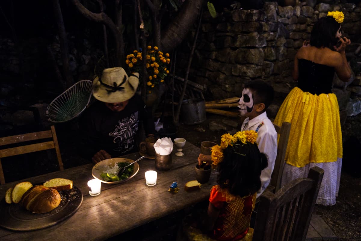
<path fill-rule="evenodd" d="M 205 0 L 187 0 L 180 12 L 168 27 L 162 32 L 162 52 L 170 52 L 187 37 L 193 23 L 197 20 Z"/>

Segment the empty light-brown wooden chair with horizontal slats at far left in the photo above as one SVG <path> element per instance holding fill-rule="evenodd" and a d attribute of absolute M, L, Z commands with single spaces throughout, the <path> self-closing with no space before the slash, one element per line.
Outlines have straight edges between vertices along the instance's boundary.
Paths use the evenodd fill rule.
<path fill-rule="evenodd" d="M 50 139 L 50 138 L 52 139 L 50 141 L 42 140 L 42 139 Z M 36 140 L 42 140 L 43 142 L 36 144 L 26 144 L 22 146 L 10 147 L 0 150 L 0 184 L 5 184 L 3 166 L 1 165 L 1 158 L 3 157 L 11 157 L 14 155 L 38 152 L 40 150 L 55 149 L 56 157 L 59 164 L 59 169 L 64 170 L 63 163 L 61 161 L 58 139 L 56 137 L 54 126 L 51 126 L 51 130 L 48 131 L 38 131 L 38 132 L 31 132 L 22 135 L 0 137 L 0 146 L 4 146 L 4 145 L 13 146 L 16 145 L 17 143 L 22 143 L 26 141 L 34 142 Z"/>

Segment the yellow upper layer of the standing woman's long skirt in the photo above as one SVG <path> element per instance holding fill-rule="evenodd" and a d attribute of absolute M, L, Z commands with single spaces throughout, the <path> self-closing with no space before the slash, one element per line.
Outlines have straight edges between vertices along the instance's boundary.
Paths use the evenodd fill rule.
<path fill-rule="evenodd" d="M 312 95 L 295 87 L 281 105 L 274 123 L 291 123 L 286 163 L 335 162 L 342 158 L 342 133 L 335 94 Z"/>

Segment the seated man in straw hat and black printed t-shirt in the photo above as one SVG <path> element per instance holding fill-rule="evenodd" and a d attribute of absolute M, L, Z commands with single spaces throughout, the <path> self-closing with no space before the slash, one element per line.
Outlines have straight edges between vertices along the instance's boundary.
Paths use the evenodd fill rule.
<path fill-rule="evenodd" d="M 97 163 L 136 152 L 139 121 L 145 134 L 154 136 L 152 112 L 135 94 L 138 84 L 139 74 L 128 78 L 121 67 L 105 69 L 94 79 L 93 96 L 98 101 L 84 111 L 79 123 L 84 157 Z"/>

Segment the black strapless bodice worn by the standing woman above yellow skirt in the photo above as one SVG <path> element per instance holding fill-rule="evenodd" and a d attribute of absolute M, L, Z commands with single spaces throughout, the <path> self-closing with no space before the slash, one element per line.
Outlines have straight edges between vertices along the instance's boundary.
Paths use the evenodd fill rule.
<path fill-rule="evenodd" d="M 299 78 L 297 87 L 302 89 L 302 91 L 310 92 L 313 95 L 332 93 L 332 80 L 335 74 L 334 67 L 300 58 L 298 60 L 298 68 Z"/>

